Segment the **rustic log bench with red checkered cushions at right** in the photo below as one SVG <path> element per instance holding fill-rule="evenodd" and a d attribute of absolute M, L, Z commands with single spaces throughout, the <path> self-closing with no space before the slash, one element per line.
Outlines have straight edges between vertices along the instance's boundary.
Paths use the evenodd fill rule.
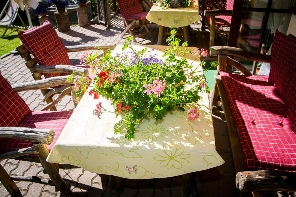
<path fill-rule="evenodd" d="M 277 31 L 271 55 L 227 46 L 213 47 L 215 51 L 211 51 L 211 56 L 218 55 L 219 62 L 211 105 L 213 113 L 218 112 L 219 105 L 225 113 L 236 185 L 242 196 L 250 192 L 254 196 L 270 196 L 274 195 L 271 191 L 296 191 L 295 46 L 296 39 Z M 229 56 L 271 63 L 270 74 L 252 75 Z M 232 67 L 243 75 L 233 74 Z M 252 120 L 256 109 L 260 115 Z"/>

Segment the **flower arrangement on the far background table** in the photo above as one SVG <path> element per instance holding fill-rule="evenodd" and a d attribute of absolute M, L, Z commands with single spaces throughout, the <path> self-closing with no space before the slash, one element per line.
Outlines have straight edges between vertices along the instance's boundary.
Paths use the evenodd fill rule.
<path fill-rule="evenodd" d="M 196 0 L 154 0 L 154 6 L 162 8 L 175 8 L 175 7 L 194 7 Z"/>

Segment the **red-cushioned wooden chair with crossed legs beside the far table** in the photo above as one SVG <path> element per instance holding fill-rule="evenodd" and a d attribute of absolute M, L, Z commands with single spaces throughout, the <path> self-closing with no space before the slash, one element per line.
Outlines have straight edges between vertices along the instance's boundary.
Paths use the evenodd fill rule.
<path fill-rule="evenodd" d="M 145 21 L 148 12 L 142 12 L 140 3 L 138 0 L 117 0 L 120 13 L 123 16 L 124 28 L 125 30 L 121 33 L 121 38 L 126 35 L 133 36 L 133 41 L 136 41 L 137 37 L 151 33 L 147 27 L 147 22 Z M 139 21 L 137 25 L 136 22 Z M 136 27 L 140 27 L 139 30 L 136 30 Z M 146 32 L 141 33 L 145 28 Z M 128 32 L 128 33 L 127 33 Z M 138 33 L 135 35 L 135 33 Z"/>

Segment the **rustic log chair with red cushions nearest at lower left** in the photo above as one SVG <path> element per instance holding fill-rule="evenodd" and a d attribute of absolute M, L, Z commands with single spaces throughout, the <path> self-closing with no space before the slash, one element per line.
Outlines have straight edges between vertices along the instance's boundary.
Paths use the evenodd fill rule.
<path fill-rule="evenodd" d="M 0 72 L 1 73 L 1 72 Z M 17 92 L 44 89 L 69 84 L 68 76 L 56 76 L 34 82 L 10 85 L 0 74 L 0 161 L 18 159 L 40 162 L 51 180 L 36 176 L 9 176 L 0 165 L 0 181 L 11 196 L 22 196 L 15 181 L 31 181 L 56 186 L 65 196 L 74 196 L 59 175 L 59 166 L 46 162 L 52 146 L 57 141 L 73 111 L 31 111 Z M 87 80 L 85 79 L 85 82 Z M 70 87 L 62 94 L 69 94 Z M 55 103 L 42 110 L 48 110 Z"/>

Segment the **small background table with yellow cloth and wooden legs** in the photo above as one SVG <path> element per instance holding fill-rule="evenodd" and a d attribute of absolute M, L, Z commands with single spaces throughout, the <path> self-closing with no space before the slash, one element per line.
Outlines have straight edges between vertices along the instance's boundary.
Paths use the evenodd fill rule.
<path fill-rule="evenodd" d="M 179 27 L 177 35 L 184 37 L 184 41 L 189 41 L 190 24 L 200 20 L 198 4 L 195 7 L 178 7 L 162 9 L 158 6 L 152 6 L 146 17 L 147 20 L 159 25 L 157 45 L 161 45 L 163 37 L 170 35 L 165 32 L 165 27 Z M 189 27 L 189 28 L 188 28 Z"/>

